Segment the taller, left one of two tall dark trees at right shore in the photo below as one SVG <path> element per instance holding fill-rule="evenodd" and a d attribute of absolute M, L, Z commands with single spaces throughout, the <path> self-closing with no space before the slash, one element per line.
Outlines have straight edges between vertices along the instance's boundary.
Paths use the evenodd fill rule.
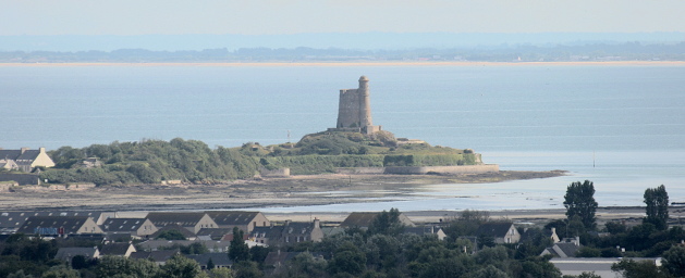
<path fill-rule="evenodd" d="M 568 220 L 573 216 L 579 216 L 586 229 L 595 229 L 597 211 L 597 202 L 595 201 L 595 185 L 592 181 L 585 180 L 572 182 L 566 188 L 564 195 L 564 206 L 566 207 L 566 217 Z"/>

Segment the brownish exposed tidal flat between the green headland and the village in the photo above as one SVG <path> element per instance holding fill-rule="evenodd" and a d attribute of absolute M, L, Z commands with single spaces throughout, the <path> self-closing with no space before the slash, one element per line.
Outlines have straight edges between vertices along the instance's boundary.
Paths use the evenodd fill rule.
<path fill-rule="evenodd" d="M 32 187 L 0 193 L 4 210 L 175 211 L 288 207 L 393 201 L 420 186 L 549 178 L 563 170 L 463 175 L 298 175 L 210 185 L 126 185 L 88 189 Z M 352 192 L 344 195 L 337 192 Z M 316 198 L 313 197 L 316 193 Z"/>

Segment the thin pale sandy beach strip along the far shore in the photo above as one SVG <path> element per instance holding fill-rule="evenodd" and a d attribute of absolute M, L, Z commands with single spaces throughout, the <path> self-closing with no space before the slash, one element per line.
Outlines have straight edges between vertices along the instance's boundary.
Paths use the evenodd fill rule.
<path fill-rule="evenodd" d="M 0 67 L 59 66 L 215 66 L 215 67 L 306 67 L 306 66 L 685 66 L 685 61 L 587 61 L 587 62 L 431 62 L 431 61 L 357 61 L 357 62 L 56 62 L 0 63 Z"/>

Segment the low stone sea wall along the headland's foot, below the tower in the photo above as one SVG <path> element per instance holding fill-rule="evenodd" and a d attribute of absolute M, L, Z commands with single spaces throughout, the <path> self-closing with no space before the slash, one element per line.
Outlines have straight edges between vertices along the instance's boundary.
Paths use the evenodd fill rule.
<path fill-rule="evenodd" d="M 462 165 L 462 166 L 395 166 L 395 167 L 351 167 L 337 168 L 335 173 L 344 175 L 426 175 L 428 173 L 457 175 L 457 174 L 482 174 L 498 173 L 500 165 L 481 164 L 481 165 Z"/>

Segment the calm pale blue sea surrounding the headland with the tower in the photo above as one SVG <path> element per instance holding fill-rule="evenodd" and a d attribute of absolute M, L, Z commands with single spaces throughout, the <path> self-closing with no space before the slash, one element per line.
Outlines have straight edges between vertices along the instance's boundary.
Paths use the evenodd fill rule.
<path fill-rule="evenodd" d="M 2 65 L 0 148 L 295 142 L 335 126 L 339 90 L 362 75 L 374 124 L 396 137 L 474 149 L 503 170 L 568 175 L 264 211 L 562 208 L 566 187 L 586 179 L 600 206 L 644 205 L 660 185 L 685 202 L 682 64 Z"/>

